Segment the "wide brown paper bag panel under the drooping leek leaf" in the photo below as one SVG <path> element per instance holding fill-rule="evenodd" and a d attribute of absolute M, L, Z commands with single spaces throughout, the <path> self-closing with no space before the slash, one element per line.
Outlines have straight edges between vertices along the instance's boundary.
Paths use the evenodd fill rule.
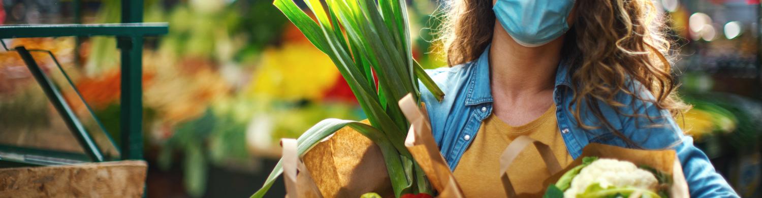
<path fill-rule="evenodd" d="M 302 160 L 324 197 L 394 196 L 378 145 L 350 127 L 310 148 Z"/>

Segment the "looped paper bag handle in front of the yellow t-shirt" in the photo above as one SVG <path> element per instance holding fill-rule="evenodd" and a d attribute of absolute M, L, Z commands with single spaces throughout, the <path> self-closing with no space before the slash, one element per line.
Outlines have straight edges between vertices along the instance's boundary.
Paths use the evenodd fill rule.
<path fill-rule="evenodd" d="M 548 145 L 528 136 L 518 136 L 511 144 L 508 144 L 508 147 L 505 148 L 500 157 L 500 179 L 503 181 L 503 187 L 508 197 L 516 197 L 516 190 L 514 190 L 514 186 L 508 178 L 508 167 L 511 166 L 511 163 L 514 162 L 524 148 L 527 148 L 527 145 L 530 144 L 533 144 L 537 148 L 537 151 L 539 151 L 539 156 L 545 161 L 549 174 L 552 175 L 561 171 L 561 164 L 559 164 L 559 160 L 555 158 Z"/>

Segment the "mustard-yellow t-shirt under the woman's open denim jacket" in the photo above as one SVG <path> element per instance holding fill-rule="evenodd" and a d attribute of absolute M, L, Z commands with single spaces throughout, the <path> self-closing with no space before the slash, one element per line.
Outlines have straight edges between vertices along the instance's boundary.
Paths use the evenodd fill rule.
<path fill-rule="evenodd" d="M 562 167 L 574 160 L 559 132 L 555 106 L 523 126 L 509 126 L 492 114 L 482 121 L 479 133 L 455 168 L 455 178 L 466 197 L 507 196 L 500 180 L 500 155 L 513 139 L 522 135 L 549 145 Z M 508 168 L 508 175 L 517 194 L 543 192 L 543 180 L 550 177 L 545 162 L 532 145 L 517 156 Z"/>

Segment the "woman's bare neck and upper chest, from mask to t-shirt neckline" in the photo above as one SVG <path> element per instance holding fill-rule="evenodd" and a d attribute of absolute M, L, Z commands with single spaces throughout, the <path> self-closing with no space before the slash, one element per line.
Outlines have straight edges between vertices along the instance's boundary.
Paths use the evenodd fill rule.
<path fill-rule="evenodd" d="M 495 116 L 508 125 L 520 126 L 537 119 L 553 104 L 562 45 L 563 37 L 543 46 L 521 46 L 495 23 L 489 49 Z"/>

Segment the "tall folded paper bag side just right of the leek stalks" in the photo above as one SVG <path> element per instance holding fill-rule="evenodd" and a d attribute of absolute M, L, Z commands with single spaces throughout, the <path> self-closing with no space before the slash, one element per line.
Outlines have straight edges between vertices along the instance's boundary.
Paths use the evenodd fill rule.
<path fill-rule="evenodd" d="M 434 136 L 431 136 L 431 124 L 424 113 L 425 109 L 418 108 L 411 94 L 399 101 L 399 108 L 411 123 L 405 147 L 426 173 L 434 189 L 439 192 L 438 197 L 463 197 L 463 191 L 440 154 Z"/>

